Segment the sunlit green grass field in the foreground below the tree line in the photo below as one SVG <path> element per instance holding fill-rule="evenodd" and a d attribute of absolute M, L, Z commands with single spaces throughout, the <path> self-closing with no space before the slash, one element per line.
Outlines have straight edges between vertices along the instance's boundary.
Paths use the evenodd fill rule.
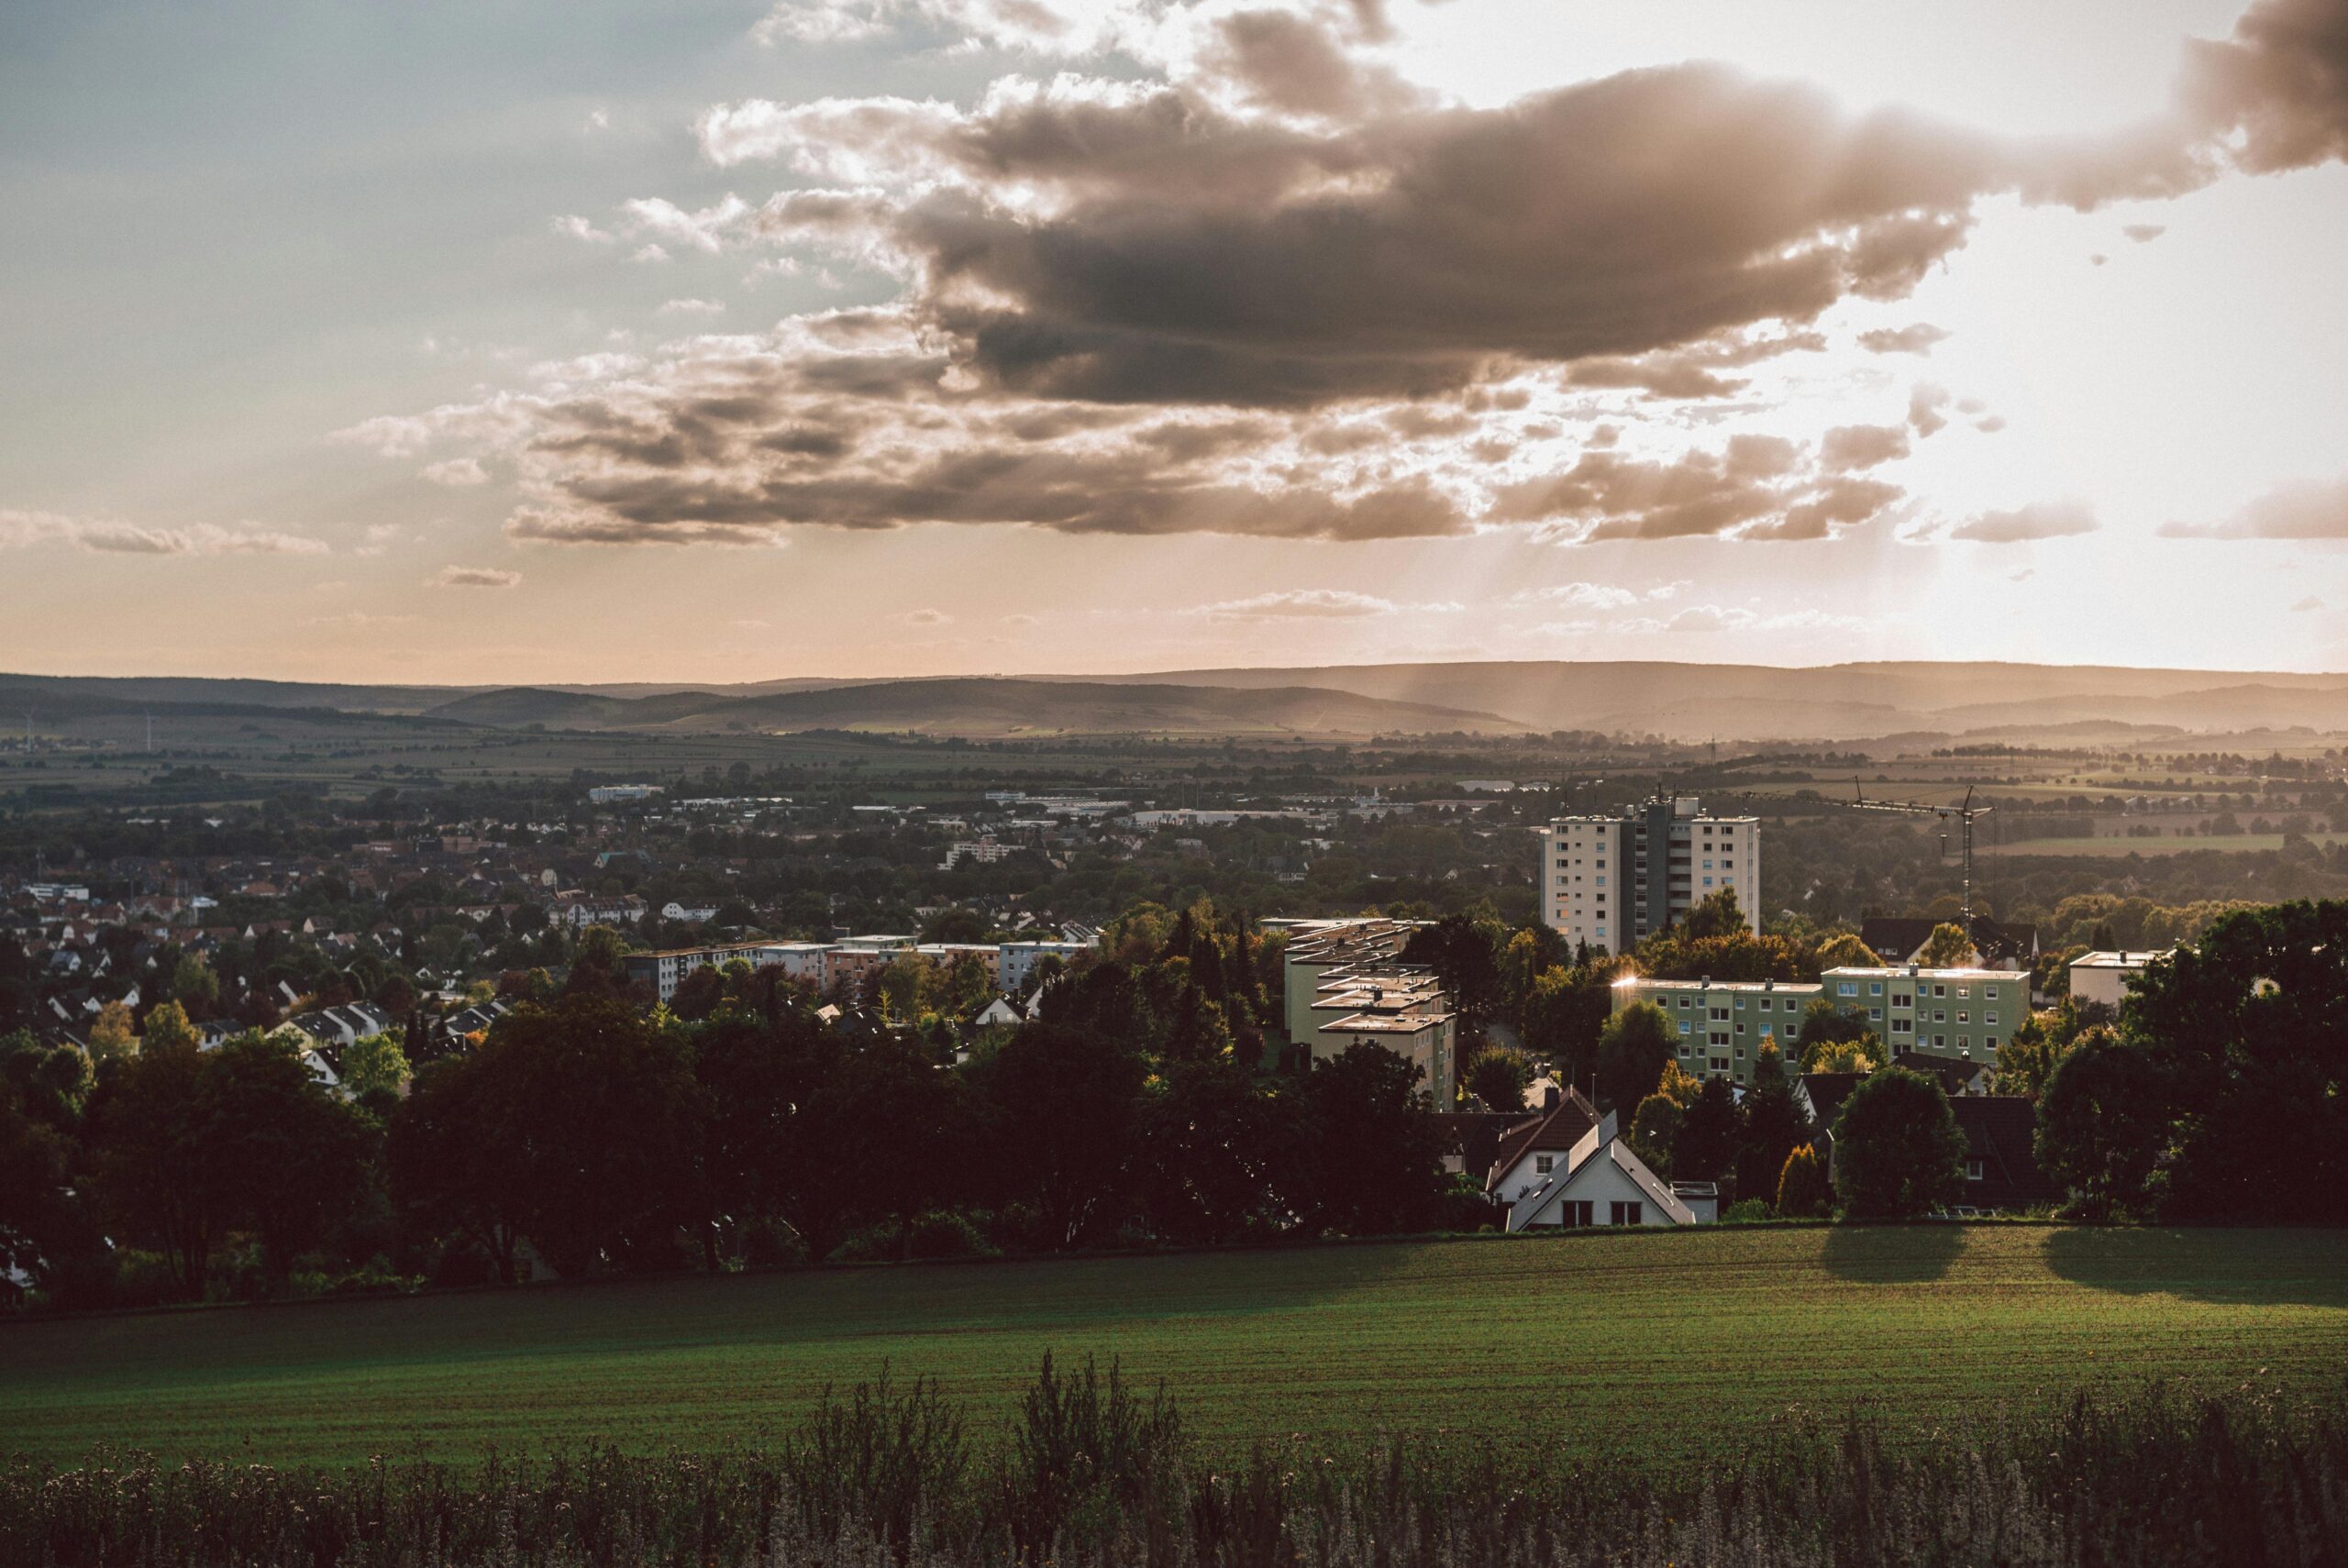
<path fill-rule="evenodd" d="M 1655 1455 L 1796 1404 L 1942 1415 L 2080 1380 L 2332 1385 L 2348 1232 L 1583 1232 L 19 1322 L 0 1329 L 0 1451 L 709 1444 L 883 1361 L 1000 1408 L 1045 1350 L 1162 1376 L 1228 1446 L 1449 1427 Z"/>

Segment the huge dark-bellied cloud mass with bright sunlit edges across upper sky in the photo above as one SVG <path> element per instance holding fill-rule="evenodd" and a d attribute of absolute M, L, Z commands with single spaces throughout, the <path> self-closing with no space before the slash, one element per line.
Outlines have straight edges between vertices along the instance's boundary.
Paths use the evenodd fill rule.
<path fill-rule="evenodd" d="M 1698 63 L 1439 101 L 1392 73 L 1367 0 L 787 0 L 765 42 L 906 35 L 1068 68 L 998 73 L 967 101 L 709 106 L 709 164 L 782 188 L 634 197 L 594 232 L 648 261 L 857 275 L 885 305 L 580 361 L 502 411 L 352 439 L 498 458 L 521 491 L 505 530 L 531 542 L 927 523 L 1834 538 L 1904 500 L 1862 472 L 1897 455 L 1892 427 L 1676 455 L 1592 437 L 1564 467 L 1547 444 L 1615 401 L 1590 392 L 1740 413 L 1735 371 L 1822 347 L 1843 300 L 1911 296 L 1991 197 L 2090 209 L 2315 155 L 2334 59 L 2315 21 L 2263 0 L 2153 124 L 2008 138 Z M 1097 75 L 1075 66 L 1094 56 Z M 1949 401 L 1914 387 L 1909 430 L 1942 430 Z"/>

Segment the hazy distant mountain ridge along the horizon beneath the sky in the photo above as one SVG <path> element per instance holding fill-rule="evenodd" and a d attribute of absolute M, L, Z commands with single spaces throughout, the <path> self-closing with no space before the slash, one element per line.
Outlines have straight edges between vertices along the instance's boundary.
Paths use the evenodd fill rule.
<path fill-rule="evenodd" d="M 2097 664 L 1458 662 L 1122 676 L 791 676 L 742 683 L 366 685 L 202 676 L 0 676 L 0 716 L 345 711 L 514 730 L 913 730 L 927 735 L 1660 735 L 1679 742 L 1932 737 L 2127 744 L 2348 732 L 2348 674 Z"/>

